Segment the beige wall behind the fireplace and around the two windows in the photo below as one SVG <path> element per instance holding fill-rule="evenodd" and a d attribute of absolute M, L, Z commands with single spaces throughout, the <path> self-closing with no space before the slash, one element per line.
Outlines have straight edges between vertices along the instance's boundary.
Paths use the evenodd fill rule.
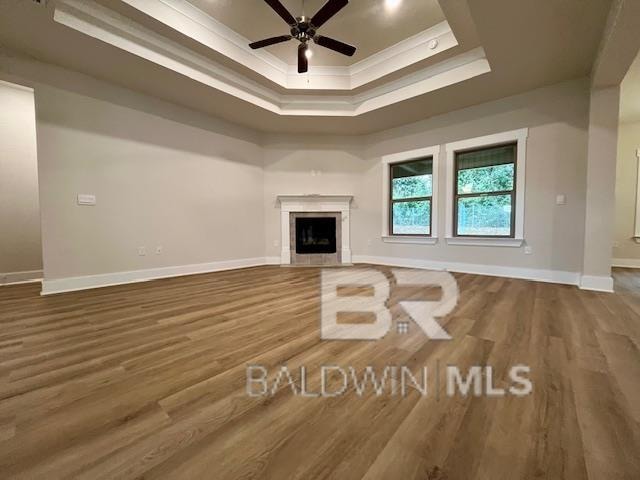
<path fill-rule="evenodd" d="M 355 259 L 446 264 L 453 269 L 575 282 L 582 268 L 589 85 L 567 82 L 437 116 L 365 138 L 315 138 L 265 145 L 266 247 L 279 255 L 281 193 L 354 195 Z M 381 240 L 383 155 L 529 127 L 523 248 L 389 244 Z M 445 231 L 444 149 L 440 158 L 440 235 Z M 321 174 L 317 172 L 321 171 Z M 567 196 L 556 205 L 557 194 Z M 456 264 L 456 265 L 454 265 Z"/>

